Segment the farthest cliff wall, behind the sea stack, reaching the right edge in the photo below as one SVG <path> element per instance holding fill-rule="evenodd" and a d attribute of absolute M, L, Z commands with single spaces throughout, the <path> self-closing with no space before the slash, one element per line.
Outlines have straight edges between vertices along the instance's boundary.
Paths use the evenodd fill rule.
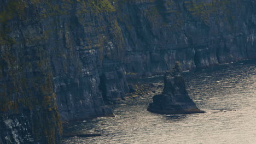
<path fill-rule="evenodd" d="M 117 1 L 127 73 L 255 58 L 254 1 Z M 147 73 L 146 73 L 147 75 Z"/>

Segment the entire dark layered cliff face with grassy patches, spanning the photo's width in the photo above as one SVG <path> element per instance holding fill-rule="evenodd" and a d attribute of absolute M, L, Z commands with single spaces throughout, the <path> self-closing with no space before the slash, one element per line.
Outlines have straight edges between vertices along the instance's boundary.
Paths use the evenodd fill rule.
<path fill-rule="evenodd" d="M 255 5 L 1 0 L 0 143 L 46 135 L 59 142 L 58 112 L 63 120 L 112 115 L 104 102 L 129 92 L 125 74 L 162 73 L 176 61 L 186 70 L 255 58 Z"/>

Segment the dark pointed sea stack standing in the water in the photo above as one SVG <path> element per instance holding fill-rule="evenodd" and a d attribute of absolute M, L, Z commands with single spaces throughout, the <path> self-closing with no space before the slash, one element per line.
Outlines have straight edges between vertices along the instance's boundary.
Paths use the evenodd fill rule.
<path fill-rule="evenodd" d="M 189 97 L 185 89 L 179 62 L 176 62 L 172 70 L 165 74 L 164 84 L 162 94 L 153 97 L 153 103 L 149 104 L 148 111 L 166 115 L 205 112 L 199 110 Z"/>

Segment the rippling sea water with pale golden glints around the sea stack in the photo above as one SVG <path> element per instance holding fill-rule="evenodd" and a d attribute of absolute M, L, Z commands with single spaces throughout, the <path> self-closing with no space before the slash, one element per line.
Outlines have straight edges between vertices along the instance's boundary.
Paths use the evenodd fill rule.
<path fill-rule="evenodd" d="M 114 105 L 114 118 L 74 123 L 67 129 L 102 136 L 69 137 L 63 143 L 256 143 L 255 64 L 243 61 L 183 73 L 190 97 L 206 113 L 151 113 L 147 106 L 153 95 L 148 95 Z"/>

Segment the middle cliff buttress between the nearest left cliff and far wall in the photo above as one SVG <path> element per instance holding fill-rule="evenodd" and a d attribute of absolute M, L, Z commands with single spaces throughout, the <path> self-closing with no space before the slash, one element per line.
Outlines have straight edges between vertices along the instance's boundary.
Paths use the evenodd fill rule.
<path fill-rule="evenodd" d="M 129 91 L 123 37 L 108 1 L 37 3 L 63 120 L 113 115 L 105 101 Z"/>

